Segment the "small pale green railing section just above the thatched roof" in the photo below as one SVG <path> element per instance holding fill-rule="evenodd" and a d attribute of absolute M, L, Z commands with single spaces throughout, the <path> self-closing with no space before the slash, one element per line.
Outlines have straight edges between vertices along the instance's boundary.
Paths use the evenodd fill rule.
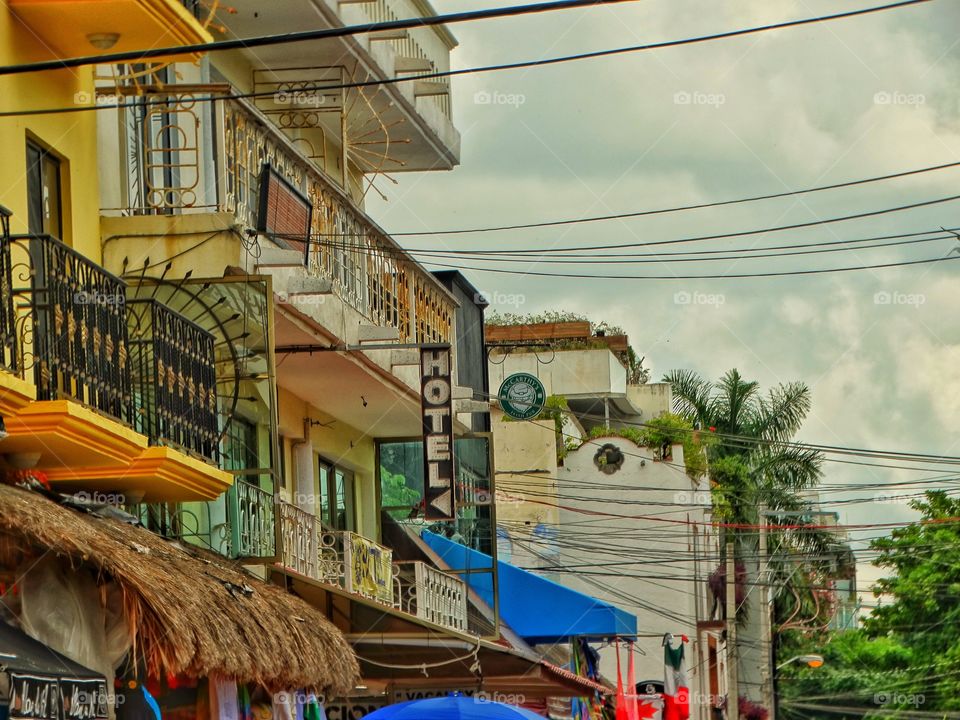
<path fill-rule="evenodd" d="M 276 558 L 276 499 L 272 492 L 236 478 L 227 491 L 229 554 L 235 558 Z"/>

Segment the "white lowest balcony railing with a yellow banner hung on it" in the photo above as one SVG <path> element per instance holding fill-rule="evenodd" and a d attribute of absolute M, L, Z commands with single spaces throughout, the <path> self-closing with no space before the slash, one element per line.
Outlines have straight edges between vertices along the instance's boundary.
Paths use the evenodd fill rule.
<path fill-rule="evenodd" d="M 328 530 L 315 515 L 280 502 L 281 564 L 351 595 L 435 625 L 468 631 L 466 584 L 422 562 L 393 562 L 393 551 L 356 533 Z"/>

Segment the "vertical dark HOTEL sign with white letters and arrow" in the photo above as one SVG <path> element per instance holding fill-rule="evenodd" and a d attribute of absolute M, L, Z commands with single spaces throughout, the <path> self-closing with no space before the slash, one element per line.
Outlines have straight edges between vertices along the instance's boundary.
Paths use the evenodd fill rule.
<path fill-rule="evenodd" d="M 423 415 L 424 518 L 453 520 L 453 384 L 450 346 L 420 348 L 420 406 Z"/>

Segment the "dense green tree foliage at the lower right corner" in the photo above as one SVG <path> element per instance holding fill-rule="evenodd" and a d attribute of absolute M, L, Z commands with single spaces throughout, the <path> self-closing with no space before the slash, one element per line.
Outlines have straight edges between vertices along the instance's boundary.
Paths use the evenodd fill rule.
<path fill-rule="evenodd" d="M 832 715 L 841 720 L 960 711 L 960 499 L 932 491 L 912 506 L 920 523 L 871 543 L 874 565 L 891 574 L 874 586 L 879 607 L 863 630 L 794 637 L 782 648 L 784 657 L 817 652 L 826 660 L 817 671 L 784 668 L 786 717 L 823 717 L 797 703 L 861 709 Z M 953 714 L 929 715 L 940 712 Z"/>

